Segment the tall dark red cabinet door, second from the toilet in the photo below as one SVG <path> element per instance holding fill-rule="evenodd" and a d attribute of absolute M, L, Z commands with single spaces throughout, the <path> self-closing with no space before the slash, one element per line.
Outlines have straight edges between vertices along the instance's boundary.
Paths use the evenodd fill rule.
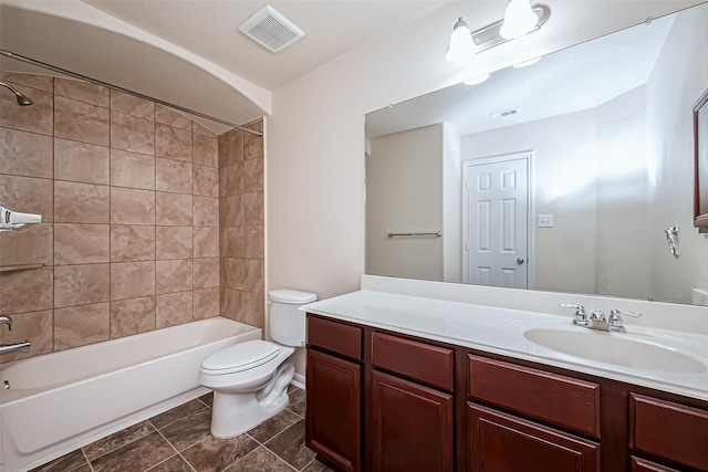
<path fill-rule="evenodd" d="M 372 373 L 375 472 L 451 472 L 452 396 Z"/>

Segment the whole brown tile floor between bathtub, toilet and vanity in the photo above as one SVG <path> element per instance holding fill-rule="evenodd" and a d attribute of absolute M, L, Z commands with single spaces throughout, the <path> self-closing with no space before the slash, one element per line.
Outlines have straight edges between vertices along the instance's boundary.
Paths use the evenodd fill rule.
<path fill-rule="evenodd" d="M 287 409 L 235 438 L 209 433 L 209 394 L 32 472 L 333 472 L 304 445 L 304 390 L 289 396 Z"/>

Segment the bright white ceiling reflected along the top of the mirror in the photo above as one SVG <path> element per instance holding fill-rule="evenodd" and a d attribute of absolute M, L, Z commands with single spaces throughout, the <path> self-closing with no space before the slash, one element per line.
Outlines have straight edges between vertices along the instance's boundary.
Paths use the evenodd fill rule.
<path fill-rule="evenodd" d="M 458 84 L 376 111 L 366 115 L 366 137 L 437 123 L 467 135 L 597 107 L 648 81 L 673 23 L 674 15 L 655 19 L 527 67 L 497 71 L 479 85 Z M 491 116 L 511 108 L 519 114 Z"/>

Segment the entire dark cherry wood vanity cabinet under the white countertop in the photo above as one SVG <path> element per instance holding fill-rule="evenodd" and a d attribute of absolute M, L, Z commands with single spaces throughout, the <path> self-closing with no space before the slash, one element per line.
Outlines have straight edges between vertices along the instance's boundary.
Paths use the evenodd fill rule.
<path fill-rule="evenodd" d="M 342 472 L 708 472 L 708 402 L 308 317 L 306 445 Z"/>

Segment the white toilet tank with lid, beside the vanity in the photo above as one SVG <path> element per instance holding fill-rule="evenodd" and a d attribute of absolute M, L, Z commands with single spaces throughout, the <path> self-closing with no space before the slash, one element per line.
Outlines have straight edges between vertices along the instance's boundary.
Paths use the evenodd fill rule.
<path fill-rule="evenodd" d="M 305 345 L 305 313 L 299 308 L 317 300 L 314 293 L 298 290 L 268 292 L 270 337 L 284 346 Z"/>

